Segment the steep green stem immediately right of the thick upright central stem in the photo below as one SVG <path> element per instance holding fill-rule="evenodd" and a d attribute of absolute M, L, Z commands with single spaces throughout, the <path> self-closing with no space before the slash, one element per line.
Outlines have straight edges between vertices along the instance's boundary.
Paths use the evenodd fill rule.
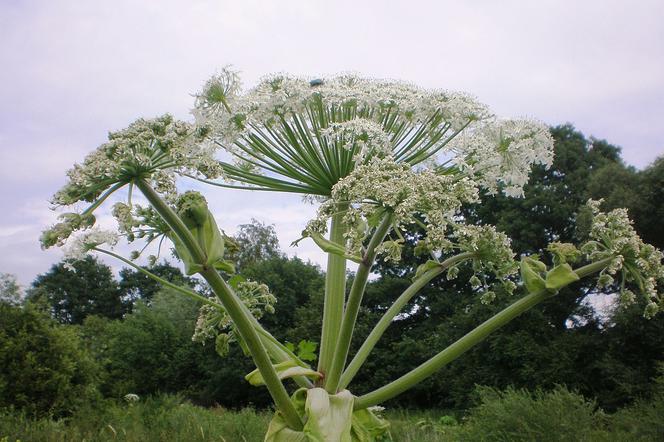
<path fill-rule="evenodd" d="M 341 372 L 343 371 L 346 359 L 348 358 L 350 341 L 353 337 L 355 321 L 357 321 L 357 314 L 360 310 L 360 304 L 362 303 L 364 290 L 367 286 L 371 266 L 376 259 L 376 248 L 383 242 L 385 235 L 387 235 L 387 232 L 390 230 L 390 227 L 392 226 L 392 218 L 392 213 L 385 214 L 381 223 L 376 227 L 376 231 L 369 241 L 362 262 L 355 273 L 353 285 L 350 289 L 350 294 L 348 295 L 346 309 L 344 310 L 339 339 L 337 340 L 337 346 L 334 350 L 332 366 L 325 377 L 325 389 L 329 393 L 334 394 L 337 392 Z"/>

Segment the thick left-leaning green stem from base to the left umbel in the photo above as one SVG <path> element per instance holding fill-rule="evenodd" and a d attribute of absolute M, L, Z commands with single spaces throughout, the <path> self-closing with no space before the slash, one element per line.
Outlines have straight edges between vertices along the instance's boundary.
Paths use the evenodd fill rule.
<path fill-rule="evenodd" d="M 261 343 L 260 337 L 255 329 L 255 318 L 253 318 L 251 314 L 248 314 L 242 301 L 221 278 L 219 272 L 214 268 L 208 268 L 205 266 L 207 261 L 205 252 L 199 247 L 189 229 L 187 229 L 173 209 L 161 199 L 159 194 L 157 194 L 147 182 L 137 180 L 136 187 L 141 190 L 152 207 L 154 207 L 157 213 L 159 213 L 171 228 L 173 233 L 177 235 L 180 241 L 182 241 L 185 247 L 187 247 L 192 258 L 197 263 L 204 266 L 204 269 L 200 272 L 201 276 L 205 278 L 208 284 L 210 284 L 210 287 L 212 287 L 212 290 L 219 297 L 221 304 L 224 309 L 226 309 L 226 312 L 228 312 L 228 315 L 233 320 L 242 339 L 247 344 L 247 348 L 251 353 L 256 367 L 265 380 L 265 385 L 270 392 L 277 409 L 282 413 L 284 420 L 289 427 L 296 430 L 301 429 L 302 420 L 295 410 L 286 388 L 277 376 L 277 372 L 270 361 L 270 357 L 267 354 L 265 347 L 263 347 L 263 344 Z"/>

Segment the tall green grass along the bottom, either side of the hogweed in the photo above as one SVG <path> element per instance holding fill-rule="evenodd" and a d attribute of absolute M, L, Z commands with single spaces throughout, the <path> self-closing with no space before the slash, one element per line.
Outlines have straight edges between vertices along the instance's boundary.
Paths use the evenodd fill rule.
<path fill-rule="evenodd" d="M 394 441 L 664 440 L 664 395 L 613 415 L 564 387 L 535 392 L 480 388 L 478 395 L 478 405 L 465 417 L 436 410 L 387 412 Z M 201 408 L 179 396 L 161 395 L 81 409 L 66 420 L 0 412 L 0 442 L 259 442 L 270 419 L 269 411 Z"/>

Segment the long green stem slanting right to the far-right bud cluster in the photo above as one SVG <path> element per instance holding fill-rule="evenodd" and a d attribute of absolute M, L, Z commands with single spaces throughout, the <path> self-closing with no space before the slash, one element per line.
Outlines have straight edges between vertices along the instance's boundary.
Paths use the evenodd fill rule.
<path fill-rule="evenodd" d="M 576 274 L 579 276 L 579 278 L 583 278 L 584 276 L 599 272 L 607 265 L 609 265 L 611 260 L 612 258 L 607 258 L 592 264 L 588 264 L 587 266 L 575 270 Z M 360 410 L 380 404 L 381 402 L 384 402 L 403 393 L 414 385 L 417 385 L 427 377 L 434 374 L 436 371 L 440 370 L 445 365 L 449 364 L 473 348 L 475 345 L 482 342 L 492 332 L 496 331 L 503 325 L 507 324 L 520 314 L 526 312 L 545 299 L 554 296 L 555 293 L 556 292 L 551 292 L 549 290 L 541 290 L 524 296 L 514 304 L 510 305 L 509 307 L 505 308 L 501 312 L 485 321 L 471 332 L 467 333 L 454 344 L 450 345 L 445 350 L 441 351 L 419 367 L 411 370 L 410 372 L 401 376 L 399 379 L 396 379 L 395 381 L 392 381 L 377 390 L 357 398 L 354 405 L 355 409 Z"/>

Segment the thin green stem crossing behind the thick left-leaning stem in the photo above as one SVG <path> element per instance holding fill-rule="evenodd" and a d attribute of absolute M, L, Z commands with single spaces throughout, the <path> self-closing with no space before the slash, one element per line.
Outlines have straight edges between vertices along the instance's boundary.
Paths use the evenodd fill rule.
<path fill-rule="evenodd" d="M 205 296 L 201 296 L 200 294 L 194 292 L 193 290 L 189 290 L 185 287 L 179 286 L 177 284 L 173 284 L 170 281 L 167 281 L 163 278 L 160 278 L 159 276 L 155 275 L 154 273 L 150 272 L 149 270 L 146 270 L 143 267 L 140 267 L 140 266 L 134 264 L 130 260 L 126 259 L 123 256 L 118 255 L 117 253 L 113 253 L 110 250 L 100 249 L 98 247 L 95 247 L 92 250 L 95 250 L 95 251 L 100 252 L 100 253 L 105 253 L 105 254 L 107 254 L 109 256 L 112 256 L 116 259 L 119 259 L 120 261 L 124 262 L 125 264 L 130 265 L 131 267 L 133 267 L 134 269 L 136 269 L 139 272 L 143 273 L 144 275 L 146 275 L 146 276 L 152 278 L 153 280 L 157 281 L 158 283 L 160 283 L 164 287 L 168 287 L 172 290 L 175 290 L 179 293 L 182 293 L 182 294 L 190 297 L 191 299 L 193 299 L 195 301 L 201 302 L 203 304 L 211 305 L 212 307 L 215 307 L 215 308 L 219 307 L 219 304 L 212 301 L 211 299 L 206 298 Z M 301 365 L 303 367 L 308 367 L 306 364 L 304 364 L 300 360 L 300 358 L 298 358 L 295 354 L 293 354 L 293 352 L 288 350 L 288 348 L 285 345 L 283 345 L 274 336 L 272 336 L 272 334 L 270 334 L 270 332 L 265 330 L 263 328 L 263 326 L 261 326 L 259 324 L 258 320 L 256 320 L 255 317 L 252 316 L 252 318 L 254 319 L 254 326 L 255 326 L 256 331 L 258 332 L 258 335 L 261 339 L 261 343 L 265 346 L 265 349 L 269 353 L 270 357 L 272 359 L 274 359 L 275 362 L 278 363 L 278 362 L 286 362 L 286 361 L 295 361 L 295 362 L 297 362 L 298 365 Z M 308 378 L 306 378 L 304 376 L 295 376 L 295 377 L 293 377 L 293 380 L 300 387 L 303 387 L 303 388 L 313 387 L 313 383 Z"/>

